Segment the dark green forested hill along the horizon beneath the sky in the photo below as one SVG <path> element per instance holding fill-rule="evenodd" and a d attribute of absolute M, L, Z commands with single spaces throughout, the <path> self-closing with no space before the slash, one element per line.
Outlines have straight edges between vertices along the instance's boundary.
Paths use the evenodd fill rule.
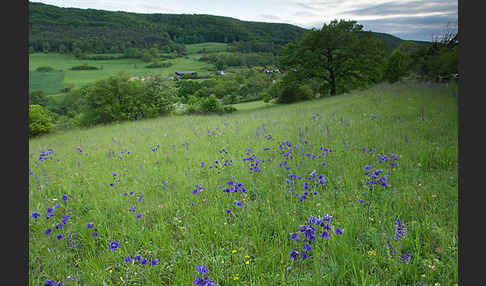
<path fill-rule="evenodd" d="M 31 52 L 73 53 L 78 49 L 86 53 L 117 53 L 154 45 L 178 50 L 181 44 L 203 42 L 234 43 L 233 46 L 242 52 L 270 52 L 298 41 L 305 31 L 308 30 L 290 24 L 241 21 L 222 16 L 140 14 L 29 2 Z M 388 34 L 375 34 L 389 51 L 404 41 Z"/>

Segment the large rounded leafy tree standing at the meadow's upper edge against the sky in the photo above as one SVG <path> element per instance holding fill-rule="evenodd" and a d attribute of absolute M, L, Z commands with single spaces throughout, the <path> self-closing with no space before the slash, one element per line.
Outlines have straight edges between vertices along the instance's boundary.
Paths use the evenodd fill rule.
<path fill-rule="evenodd" d="M 356 21 L 333 20 L 282 49 L 280 66 L 298 81 L 318 78 L 331 96 L 380 81 L 385 48 Z"/>

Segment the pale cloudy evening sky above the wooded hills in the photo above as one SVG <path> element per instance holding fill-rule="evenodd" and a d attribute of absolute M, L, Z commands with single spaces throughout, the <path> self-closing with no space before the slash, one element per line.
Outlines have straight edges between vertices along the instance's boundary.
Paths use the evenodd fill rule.
<path fill-rule="evenodd" d="M 162 14 L 209 14 L 322 28 L 337 19 L 403 40 L 432 41 L 457 30 L 458 0 L 38 0 L 58 7 Z"/>

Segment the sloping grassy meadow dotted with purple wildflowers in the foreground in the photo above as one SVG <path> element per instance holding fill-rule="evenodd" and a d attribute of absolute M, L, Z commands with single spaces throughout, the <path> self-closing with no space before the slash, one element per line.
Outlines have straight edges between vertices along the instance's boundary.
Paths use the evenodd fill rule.
<path fill-rule="evenodd" d="M 29 285 L 457 285 L 456 90 L 31 139 Z"/>

